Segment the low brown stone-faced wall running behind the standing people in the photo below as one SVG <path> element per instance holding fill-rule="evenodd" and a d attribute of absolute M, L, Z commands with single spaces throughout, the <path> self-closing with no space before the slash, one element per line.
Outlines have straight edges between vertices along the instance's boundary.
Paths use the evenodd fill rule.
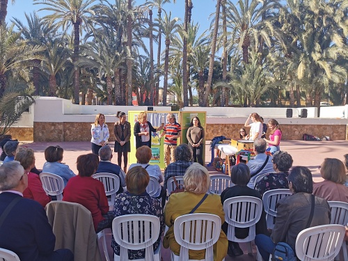
<path fill-rule="evenodd" d="M 108 122 L 109 141 L 115 141 L 113 122 Z M 214 136 L 226 136 L 239 139 L 242 124 L 207 124 L 205 139 Z M 348 125 L 281 125 L 284 140 L 301 140 L 303 134 L 311 134 L 322 138 L 329 136 L 331 140 L 348 140 Z M 246 132 L 249 132 L 246 129 Z M 90 122 L 34 122 L 34 127 L 11 127 L 10 132 L 19 141 L 90 141 Z M 269 134 L 269 132 L 267 133 Z"/>

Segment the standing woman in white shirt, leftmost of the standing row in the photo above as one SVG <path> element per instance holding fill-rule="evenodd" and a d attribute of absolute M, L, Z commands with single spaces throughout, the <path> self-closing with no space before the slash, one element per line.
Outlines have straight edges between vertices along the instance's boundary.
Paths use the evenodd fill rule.
<path fill-rule="evenodd" d="M 95 116 L 95 122 L 90 129 L 90 133 L 92 134 L 92 139 L 90 140 L 92 152 L 98 155 L 99 149 L 107 144 L 110 136 L 108 125 L 105 124 L 104 114 L 98 113 Z"/>

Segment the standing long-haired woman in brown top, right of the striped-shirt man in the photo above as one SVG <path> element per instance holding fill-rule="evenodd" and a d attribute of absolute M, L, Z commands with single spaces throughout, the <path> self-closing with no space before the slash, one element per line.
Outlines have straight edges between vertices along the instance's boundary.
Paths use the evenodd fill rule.
<path fill-rule="evenodd" d="M 203 139 L 204 139 L 204 129 L 200 125 L 200 120 L 198 117 L 193 117 L 191 120 L 191 125 L 187 129 L 187 141 L 189 142 L 189 147 L 193 153 L 193 161 L 198 162 L 200 165 L 203 164 Z"/>

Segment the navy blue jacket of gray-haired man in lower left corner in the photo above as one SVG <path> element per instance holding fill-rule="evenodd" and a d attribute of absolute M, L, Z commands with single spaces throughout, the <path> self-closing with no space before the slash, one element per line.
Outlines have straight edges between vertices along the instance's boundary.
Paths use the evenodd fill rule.
<path fill-rule="evenodd" d="M 18 194 L 0 194 L 0 215 Z M 56 237 L 40 203 L 22 198 L 11 209 L 0 228 L 0 247 L 17 253 L 21 261 L 45 260 L 54 251 Z"/>

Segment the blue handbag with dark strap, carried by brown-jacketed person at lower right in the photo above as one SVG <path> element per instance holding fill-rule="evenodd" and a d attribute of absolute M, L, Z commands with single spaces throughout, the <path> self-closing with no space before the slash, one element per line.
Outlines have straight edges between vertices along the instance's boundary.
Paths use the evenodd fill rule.
<path fill-rule="evenodd" d="M 311 198 L 312 198 L 312 206 L 310 207 L 310 216 L 309 216 L 306 228 L 309 228 L 310 223 L 312 222 L 312 219 L 313 219 L 313 214 L 314 214 L 314 205 L 315 205 L 314 195 L 311 195 Z M 296 261 L 297 260 L 294 249 L 292 249 L 292 247 L 285 242 L 279 242 L 278 244 L 276 244 L 276 247 L 274 248 L 274 252 L 272 256 L 273 256 L 272 260 L 274 261 Z"/>

